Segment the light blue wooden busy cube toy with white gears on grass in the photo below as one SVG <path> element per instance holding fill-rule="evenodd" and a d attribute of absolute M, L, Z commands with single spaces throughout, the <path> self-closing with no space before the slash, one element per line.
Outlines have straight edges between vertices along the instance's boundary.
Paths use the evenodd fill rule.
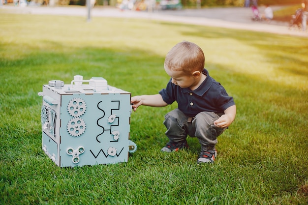
<path fill-rule="evenodd" d="M 136 150 L 129 140 L 130 93 L 104 78 L 74 79 L 49 81 L 38 93 L 42 149 L 60 167 L 127 162 Z"/>

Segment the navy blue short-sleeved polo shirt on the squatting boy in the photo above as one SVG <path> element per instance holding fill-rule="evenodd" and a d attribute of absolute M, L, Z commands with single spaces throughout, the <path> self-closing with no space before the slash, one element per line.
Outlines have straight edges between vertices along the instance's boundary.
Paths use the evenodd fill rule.
<path fill-rule="evenodd" d="M 204 69 L 207 77 L 205 81 L 195 90 L 181 88 L 168 82 L 167 87 L 160 90 L 159 94 L 167 104 L 178 102 L 178 108 L 188 117 L 195 117 L 200 112 L 224 113 L 227 108 L 235 105 L 233 97 L 216 82 L 209 72 Z"/>

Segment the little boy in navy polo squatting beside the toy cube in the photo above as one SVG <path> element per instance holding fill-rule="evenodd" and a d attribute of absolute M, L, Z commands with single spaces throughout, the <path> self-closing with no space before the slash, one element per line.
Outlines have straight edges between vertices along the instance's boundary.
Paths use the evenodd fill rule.
<path fill-rule="evenodd" d="M 216 158 L 217 136 L 234 120 L 236 106 L 233 98 L 204 69 L 204 54 L 191 42 L 175 45 L 164 62 L 171 77 L 159 94 L 131 98 L 133 110 L 140 105 L 164 107 L 178 102 L 178 109 L 166 114 L 164 125 L 169 142 L 161 151 L 188 148 L 186 137 L 198 138 L 201 152 L 197 163 L 213 163 Z"/>

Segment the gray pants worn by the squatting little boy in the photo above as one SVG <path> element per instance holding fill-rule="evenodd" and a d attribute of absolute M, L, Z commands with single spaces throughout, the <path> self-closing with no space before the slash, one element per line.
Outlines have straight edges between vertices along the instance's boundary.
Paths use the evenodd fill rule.
<path fill-rule="evenodd" d="M 181 142 L 187 135 L 196 137 L 202 150 L 215 149 L 217 137 L 226 129 L 214 125 L 214 121 L 221 115 L 201 112 L 191 119 L 179 109 L 175 109 L 165 115 L 164 125 L 167 128 L 165 134 L 173 142 Z"/>

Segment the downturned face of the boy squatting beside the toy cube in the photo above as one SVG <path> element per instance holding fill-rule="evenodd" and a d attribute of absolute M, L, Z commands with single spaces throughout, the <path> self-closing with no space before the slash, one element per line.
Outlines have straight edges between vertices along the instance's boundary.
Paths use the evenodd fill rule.
<path fill-rule="evenodd" d="M 192 75 L 185 75 L 182 71 L 174 71 L 165 68 L 166 73 L 172 78 L 171 82 L 181 88 L 189 88 L 196 83 Z"/>

